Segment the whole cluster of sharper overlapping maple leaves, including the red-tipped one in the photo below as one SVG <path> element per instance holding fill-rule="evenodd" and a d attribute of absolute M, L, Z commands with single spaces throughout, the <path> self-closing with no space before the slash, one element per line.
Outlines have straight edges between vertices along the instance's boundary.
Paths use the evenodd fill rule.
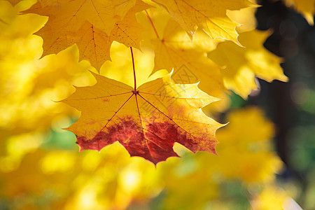
<path fill-rule="evenodd" d="M 256 6 L 247 0 L 42 0 L 23 13 L 48 16 L 36 32 L 43 38 L 42 56 L 76 44 L 80 59 L 109 77 L 104 62 L 119 66 L 122 59 L 132 60 L 128 76 L 123 68 L 115 72 L 123 80 L 94 73 L 95 85 L 76 87 L 63 100 L 82 112 L 68 130 L 76 134 L 80 150 L 100 151 L 119 141 L 130 155 L 156 164 L 178 156 L 175 142 L 194 153 L 216 153 L 215 132 L 222 125 L 201 110 L 218 100 L 214 97 L 225 99 L 233 90 L 246 98 L 257 89 L 255 76 L 287 80 L 281 59 L 262 47 L 268 33 L 255 31 Z M 131 51 L 115 60 L 111 49 L 118 43 Z M 141 51 L 133 53 L 136 49 Z M 154 57 L 153 67 L 139 63 L 144 54 Z M 158 76 L 162 69 L 172 78 Z M 157 79 L 149 78 L 152 74 Z"/>

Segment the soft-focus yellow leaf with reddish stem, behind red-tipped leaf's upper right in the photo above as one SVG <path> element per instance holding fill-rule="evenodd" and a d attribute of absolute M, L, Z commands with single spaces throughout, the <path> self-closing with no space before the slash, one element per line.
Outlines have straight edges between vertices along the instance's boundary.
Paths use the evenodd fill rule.
<path fill-rule="evenodd" d="M 202 29 L 198 29 L 193 42 L 180 25 L 171 20 L 162 8 L 148 9 L 147 13 L 139 13 L 137 18 L 146 28 L 144 42 L 155 51 L 153 73 L 159 69 L 174 69 L 172 79 L 175 83 L 196 83 L 200 81 L 200 89 L 222 100 L 207 106 L 207 111 L 223 111 L 228 107 L 226 88 L 219 66 L 207 58 L 207 52 L 216 49 L 223 39 L 212 39 Z M 149 43 L 148 40 L 151 42 Z M 224 98 L 224 99 L 223 99 Z M 210 111 L 211 109 L 211 111 Z"/>

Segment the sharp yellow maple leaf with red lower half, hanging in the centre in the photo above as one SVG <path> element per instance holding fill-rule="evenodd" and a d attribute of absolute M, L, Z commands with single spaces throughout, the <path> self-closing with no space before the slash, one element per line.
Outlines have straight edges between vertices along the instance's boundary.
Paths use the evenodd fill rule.
<path fill-rule="evenodd" d="M 157 164 L 174 152 L 175 142 L 196 153 L 215 153 L 220 123 L 201 108 L 217 99 L 196 84 L 177 85 L 170 74 L 137 89 L 93 73 L 97 83 L 76 87 L 63 102 L 82 112 L 67 130 L 76 134 L 80 151 L 100 151 L 119 141 L 131 156 Z"/>

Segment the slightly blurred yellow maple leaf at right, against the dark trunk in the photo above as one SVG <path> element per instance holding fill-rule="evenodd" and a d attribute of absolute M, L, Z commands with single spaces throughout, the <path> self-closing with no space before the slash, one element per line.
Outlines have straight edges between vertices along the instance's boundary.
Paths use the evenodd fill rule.
<path fill-rule="evenodd" d="M 223 66 L 225 87 L 233 90 L 246 99 L 251 90 L 257 89 L 255 76 L 271 82 L 272 80 L 287 81 L 280 63 L 281 58 L 263 47 L 268 31 L 247 31 L 241 33 L 241 48 L 231 41 L 219 43 L 216 50 L 209 52 L 209 58 Z"/>

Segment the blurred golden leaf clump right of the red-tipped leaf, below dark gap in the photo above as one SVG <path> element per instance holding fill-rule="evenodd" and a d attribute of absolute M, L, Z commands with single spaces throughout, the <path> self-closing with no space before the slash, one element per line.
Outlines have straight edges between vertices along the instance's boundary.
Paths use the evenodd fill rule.
<path fill-rule="evenodd" d="M 229 125 L 217 132 L 221 144 L 217 146 L 219 157 L 215 168 L 228 178 L 248 183 L 272 181 L 282 165 L 279 157 L 270 151 L 272 123 L 255 107 L 235 111 L 228 120 Z"/>

